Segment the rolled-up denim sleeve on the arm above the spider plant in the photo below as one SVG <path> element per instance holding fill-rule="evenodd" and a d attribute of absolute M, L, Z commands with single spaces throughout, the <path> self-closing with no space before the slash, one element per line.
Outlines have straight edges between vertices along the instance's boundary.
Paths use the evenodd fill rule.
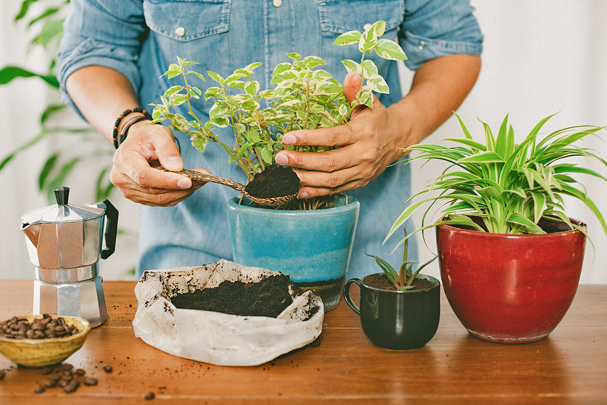
<path fill-rule="evenodd" d="M 415 70 L 439 56 L 480 55 L 483 34 L 469 0 L 407 0 L 399 43 Z"/>

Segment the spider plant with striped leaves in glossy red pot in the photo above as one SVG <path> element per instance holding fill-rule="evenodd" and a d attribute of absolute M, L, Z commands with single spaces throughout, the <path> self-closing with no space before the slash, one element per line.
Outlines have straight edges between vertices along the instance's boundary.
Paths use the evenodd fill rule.
<path fill-rule="evenodd" d="M 574 126 L 538 138 L 551 117 L 518 145 L 506 115 L 497 137 L 483 123 L 484 143 L 457 117 L 464 138 L 447 140 L 456 146 L 407 148 L 419 152 L 410 160 L 443 160 L 450 166 L 407 201 L 387 237 L 428 204 L 415 232 L 436 228 L 447 299 L 479 339 L 538 341 L 565 316 L 582 270 L 586 225 L 565 214 L 564 196 L 582 200 L 607 233 L 599 209 L 574 179 L 578 173 L 605 177 L 566 160 L 584 157 L 606 165 L 590 149 L 573 145 L 602 128 Z M 441 219 L 426 225 L 436 203 Z"/>

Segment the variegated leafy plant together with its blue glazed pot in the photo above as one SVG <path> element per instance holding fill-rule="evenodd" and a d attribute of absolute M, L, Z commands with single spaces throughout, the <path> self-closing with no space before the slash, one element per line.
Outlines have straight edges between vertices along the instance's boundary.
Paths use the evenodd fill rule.
<path fill-rule="evenodd" d="M 218 143 L 252 180 L 254 175 L 275 163 L 282 149 L 323 152 L 329 148 L 288 146 L 282 143 L 285 132 L 316 129 L 345 124 L 358 106 L 373 107 L 373 93 L 389 91 L 378 69 L 365 55 L 375 52 L 391 60 L 406 58 L 394 41 L 378 39 L 384 34 L 385 22 L 372 24 L 364 33 L 351 31 L 337 37 L 338 46 L 358 44 L 360 63 L 344 60 L 348 72 L 361 75 L 356 99 L 349 103 L 342 85 L 330 73 L 319 69 L 326 64 L 317 56 L 302 57 L 287 53 L 290 62 L 278 64 L 272 73 L 273 89 L 260 89 L 254 70 L 261 63 L 251 63 L 226 78 L 207 72 L 217 86 L 205 93 L 192 86 L 192 78 L 205 80 L 189 70 L 191 61 L 178 58 L 165 75 L 181 78 L 153 104 L 152 123 L 169 120 L 171 128 L 185 132 L 192 145 L 204 152 L 208 142 Z M 191 103 L 205 97 L 214 98 L 209 120 L 202 121 L 192 111 Z M 171 107 L 188 104 L 190 117 L 171 112 Z M 231 127 L 234 145 L 227 145 L 216 134 L 217 128 Z M 247 266 L 270 268 L 291 276 L 301 288 L 313 288 L 324 302 L 325 311 L 337 306 L 350 260 L 359 203 L 339 195 L 321 199 L 300 200 L 283 209 L 252 205 L 242 197 L 228 201 L 228 222 L 234 260 Z M 323 208 L 323 209 L 320 209 Z M 277 248 L 277 247 L 284 248 Z"/>

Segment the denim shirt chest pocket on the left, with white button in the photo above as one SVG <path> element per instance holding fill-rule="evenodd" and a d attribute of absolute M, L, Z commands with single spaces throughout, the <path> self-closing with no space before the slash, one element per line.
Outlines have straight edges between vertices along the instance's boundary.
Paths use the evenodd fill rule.
<path fill-rule="evenodd" d="M 159 72 L 164 73 L 169 64 L 177 63 L 179 56 L 198 62 L 199 64 L 188 66 L 188 70 L 200 72 L 205 77 L 207 70 L 224 77 L 226 72 L 231 73 L 231 0 L 144 0 L 143 12 L 155 43 L 157 58 L 153 63 L 158 64 Z M 175 84 L 183 85 L 177 82 L 177 78 L 169 80 L 167 76 L 160 77 L 158 94 L 163 94 L 164 90 Z M 192 78 L 192 83 L 189 84 L 198 87 L 203 93 L 208 87 L 217 85 L 212 80 L 202 81 L 197 78 Z M 213 98 L 205 100 L 200 97 L 192 101 L 192 107 L 206 111 L 213 103 Z"/>

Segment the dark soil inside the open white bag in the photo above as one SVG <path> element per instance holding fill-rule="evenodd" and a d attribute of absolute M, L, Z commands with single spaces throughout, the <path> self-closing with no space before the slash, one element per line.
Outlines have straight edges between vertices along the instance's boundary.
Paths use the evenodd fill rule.
<path fill-rule="evenodd" d="M 290 284 L 289 276 L 284 274 L 256 283 L 226 280 L 215 288 L 177 294 L 171 297 L 171 302 L 182 309 L 276 318 L 293 302 L 288 290 Z"/>

